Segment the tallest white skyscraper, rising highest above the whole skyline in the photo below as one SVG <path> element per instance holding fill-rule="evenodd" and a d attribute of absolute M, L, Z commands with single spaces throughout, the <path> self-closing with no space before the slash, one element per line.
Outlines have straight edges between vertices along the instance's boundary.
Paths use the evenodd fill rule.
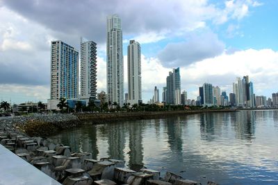
<path fill-rule="evenodd" d="M 122 21 L 117 15 L 107 17 L 106 85 L 108 102 L 124 102 L 124 62 L 122 56 Z"/>

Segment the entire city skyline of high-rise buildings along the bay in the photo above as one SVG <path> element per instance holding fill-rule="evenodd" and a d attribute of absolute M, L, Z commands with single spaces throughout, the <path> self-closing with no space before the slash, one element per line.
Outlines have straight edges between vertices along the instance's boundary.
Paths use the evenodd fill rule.
<path fill-rule="evenodd" d="M 124 64 L 122 49 L 122 20 L 117 15 L 106 19 L 106 92 L 97 94 L 97 44 L 84 41 L 79 51 L 63 41 L 51 42 L 51 88 L 47 109 L 58 109 L 60 98 L 66 98 L 70 107 L 77 102 L 88 105 L 94 101 L 103 105 L 128 105 L 142 103 L 141 46 L 130 40 L 127 46 L 127 79 L 128 92 L 124 94 Z M 79 74 L 80 71 L 80 74 Z M 79 82 L 80 79 L 80 82 Z M 80 84 L 80 87 L 79 87 Z M 236 78 L 233 91 L 227 94 L 220 87 L 204 83 L 199 87 L 199 96 L 195 100 L 188 99 L 187 91 L 181 91 L 179 67 L 172 69 L 165 79 L 165 87 L 160 92 L 154 87 L 154 95 L 149 104 L 158 105 L 199 105 L 231 106 L 231 107 L 278 107 L 278 93 L 272 98 L 255 96 L 253 83 L 248 76 Z M 80 89 L 80 91 L 79 91 Z"/>

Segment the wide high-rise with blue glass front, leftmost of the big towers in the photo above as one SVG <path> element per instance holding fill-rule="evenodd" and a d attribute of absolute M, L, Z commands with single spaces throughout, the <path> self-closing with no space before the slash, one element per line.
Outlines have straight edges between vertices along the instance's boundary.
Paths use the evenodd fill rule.
<path fill-rule="evenodd" d="M 47 109 L 57 109 L 60 98 L 79 98 L 79 52 L 60 40 L 51 42 L 51 84 Z"/>

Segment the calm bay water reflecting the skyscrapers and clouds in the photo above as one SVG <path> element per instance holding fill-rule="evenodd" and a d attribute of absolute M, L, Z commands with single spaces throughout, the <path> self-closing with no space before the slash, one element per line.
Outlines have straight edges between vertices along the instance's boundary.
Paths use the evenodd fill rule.
<path fill-rule="evenodd" d="M 203 113 L 65 130 L 51 136 L 95 159 L 124 159 L 206 184 L 278 184 L 278 111 Z"/>

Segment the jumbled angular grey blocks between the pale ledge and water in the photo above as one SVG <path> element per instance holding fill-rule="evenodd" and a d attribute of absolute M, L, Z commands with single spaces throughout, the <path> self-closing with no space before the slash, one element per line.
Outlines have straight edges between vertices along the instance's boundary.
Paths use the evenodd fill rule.
<path fill-rule="evenodd" d="M 71 152 L 70 146 L 53 143 L 41 137 L 27 136 L 8 125 L 0 128 L 0 143 L 18 157 L 67 185 L 200 184 L 170 172 L 165 177 L 161 177 L 159 171 L 147 168 L 136 172 L 126 168 L 122 160 L 92 159 L 92 154 L 88 152 Z M 208 184 L 215 185 L 214 182 Z"/>

